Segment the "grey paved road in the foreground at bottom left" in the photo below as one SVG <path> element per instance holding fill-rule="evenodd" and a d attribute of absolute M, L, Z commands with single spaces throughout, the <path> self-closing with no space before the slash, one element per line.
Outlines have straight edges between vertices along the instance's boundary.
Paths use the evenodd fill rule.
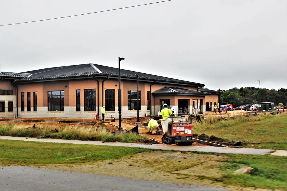
<path fill-rule="evenodd" d="M 224 188 L 174 184 L 25 166 L 0 168 L 0 190 L 190 190 L 219 191 Z"/>

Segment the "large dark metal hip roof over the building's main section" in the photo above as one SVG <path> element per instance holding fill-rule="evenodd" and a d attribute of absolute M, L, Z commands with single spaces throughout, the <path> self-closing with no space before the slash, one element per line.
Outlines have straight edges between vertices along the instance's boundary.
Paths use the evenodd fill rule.
<path fill-rule="evenodd" d="M 11 73 L 11 72 L 9 72 Z M 44 68 L 40 70 L 32 70 L 24 72 L 29 75 L 25 75 L 19 81 L 35 81 L 35 80 L 54 80 L 54 79 L 63 79 L 63 78 L 79 78 L 84 76 L 114 76 L 117 78 L 119 76 L 119 68 L 113 68 L 109 66 L 103 66 L 98 64 L 80 64 L 73 66 L 61 66 L 54 68 Z M 23 73 L 14 73 L 23 74 Z M 142 72 L 135 72 L 131 70 L 121 69 L 121 77 L 133 78 L 137 77 L 135 74 L 139 75 L 139 80 L 150 80 L 150 81 L 159 81 L 159 82 L 170 82 L 170 83 L 179 83 L 187 84 L 196 87 L 202 87 L 204 84 L 199 84 L 195 82 L 189 82 L 185 80 L 178 80 L 174 78 L 167 78 L 163 76 L 157 76 L 152 74 L 146 74 Z"/>

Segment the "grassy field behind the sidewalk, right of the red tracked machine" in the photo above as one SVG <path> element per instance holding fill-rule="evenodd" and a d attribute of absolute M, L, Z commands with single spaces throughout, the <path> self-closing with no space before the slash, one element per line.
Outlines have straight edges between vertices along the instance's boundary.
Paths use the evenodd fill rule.
<path fill-rule="evenodd" d="M 193 133 L 214 135 L 229 141 L 242 141 L 242 147 L 286 150 L 287 114 L 236 116 L 234 119 L 208 118 L 193 122 Z M 253 146 L 251 146 L 253 145 Z"/>

